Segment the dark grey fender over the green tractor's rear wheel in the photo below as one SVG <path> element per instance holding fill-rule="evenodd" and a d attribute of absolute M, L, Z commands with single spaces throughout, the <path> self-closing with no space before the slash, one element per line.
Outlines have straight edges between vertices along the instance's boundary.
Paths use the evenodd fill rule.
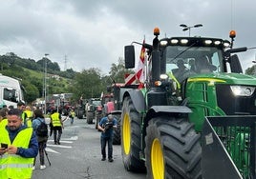
<path fill-rule="evenodd" d="M 127 90 L 123 94 L 123 99 L 126 96 L 131 97 L 132 102 L 135 106 L 135 109 L 137 109 L 137 111 L 139 113 L 143 112 L 146 109 L 145 98 L 144 98 L 143 93 L 141 92 L 141 90 L 139 90 L 139 89 Z"/>

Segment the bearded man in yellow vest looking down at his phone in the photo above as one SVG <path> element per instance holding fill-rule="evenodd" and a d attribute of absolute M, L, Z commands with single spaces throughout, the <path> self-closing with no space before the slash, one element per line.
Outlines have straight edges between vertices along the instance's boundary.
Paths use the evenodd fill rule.
<path fill-rule="evenodd" d="M 32 178 L 33 158 L 38 153 L 35 133 L 22 124 L 20 109 L 9 110 L 7 118 L 8 126 L 0 128 L 0 178 Z"/>

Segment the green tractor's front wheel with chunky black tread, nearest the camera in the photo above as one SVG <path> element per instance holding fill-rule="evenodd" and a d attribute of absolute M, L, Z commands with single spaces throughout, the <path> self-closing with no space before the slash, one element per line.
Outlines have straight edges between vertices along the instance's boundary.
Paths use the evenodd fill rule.
<path fill-rule="evenodd" d="M 147 178 L 202 178 L 200 135 L 185 119 L 160 116 L 146 129 Z"/>

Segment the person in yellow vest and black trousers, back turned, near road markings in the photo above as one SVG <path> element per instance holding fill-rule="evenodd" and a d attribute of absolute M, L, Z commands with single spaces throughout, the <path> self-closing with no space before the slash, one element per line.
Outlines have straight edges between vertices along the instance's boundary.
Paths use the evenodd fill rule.
<path fill-rule="evenodd" d="M 57 109 L 53 109 L 51 114 L 51 123 L 53 125 L 53 139 L 54 144 L 60 145 L 60 138 L 63 129 L 63 123 L 61 119 L 61 114 L 57 111 Z"/>

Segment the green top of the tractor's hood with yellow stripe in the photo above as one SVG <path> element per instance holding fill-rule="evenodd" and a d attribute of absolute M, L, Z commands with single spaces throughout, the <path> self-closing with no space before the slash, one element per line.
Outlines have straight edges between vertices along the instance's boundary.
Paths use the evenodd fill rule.
<path fill-rule="evenodd" d="M 207 73 L 189 77 L 188 82 L 208 81 L 212 83 L 225 83 L 236 85 L 256 86 L 256 77 L 242 73 Z"/>

